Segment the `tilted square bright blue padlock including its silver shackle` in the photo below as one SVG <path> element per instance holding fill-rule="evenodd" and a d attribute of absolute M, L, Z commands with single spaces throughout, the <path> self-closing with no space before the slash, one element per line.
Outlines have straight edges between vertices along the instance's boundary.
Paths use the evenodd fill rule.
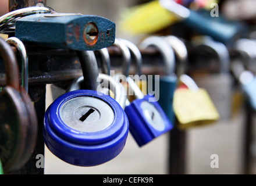
<path fill-rule="evenodd" d="M 120 45 L 122 42 L 125 45 Z M 124 60 L 127 61 L 127 63 L 123 62 L 123 69 L 129 71 L 131 55 L 124 52 L 127 51 L 128 48 L 130 53 L 134 55 L 134 58 L 136 59 L 137 72 L 140 73 L 142 60 L 136 45 L 127 43 L 124 40 L 120 40 L 116 45 L 118 45 L 119 48 L 122 48 L 123 58 L 127 59 Z M 125 83 L 127 83 L 127 95 L 132 93 L 136 98 L 131 102 L 127 99 L 125 112 L 129 119 L 129 131 L 131 135 L 133 135 L 138 146 L 143 146 L 157 138 L 159 135 L 171 130 L 173 126 L 163 112 L 161 106 L 159 106 L 155 97 L 151 95 L 144 96 L 143 92 L 141 92 L 133 79 L 127 75 L 126 71 L 123 71 L 125 75 L 117 74 L 115 78 L 117 81 L 125 81 Z"/>

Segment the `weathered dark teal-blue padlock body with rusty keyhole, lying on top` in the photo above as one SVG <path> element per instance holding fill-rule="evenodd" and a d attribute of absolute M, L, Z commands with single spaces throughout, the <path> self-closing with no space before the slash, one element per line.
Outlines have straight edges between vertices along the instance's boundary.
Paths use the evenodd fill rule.
<path fill-rule="evenodd" d="M 95 51 L 115 42 L 115 23 L 94 15 L 36 14 L 16 20 L 15 36 L 43 47 Z"/>

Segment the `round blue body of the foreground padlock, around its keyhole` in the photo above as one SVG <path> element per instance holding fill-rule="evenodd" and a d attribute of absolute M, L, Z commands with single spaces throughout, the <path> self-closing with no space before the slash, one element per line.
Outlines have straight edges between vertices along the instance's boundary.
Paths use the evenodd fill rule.
<path fill-rule="evenodd" d="M 98 131 L 95 131 L 94 125 L 97 127 L 101 122 L 100 117 L 98 120 L 91 120 L 91 123 L 84 123 L 87 126 L 82 126 L 81 130 L 77 126 L 63 122 L 66 119 L 62 116 L 61 108 L 65 104 L 70 106 L 69 102 L 75 98 L 81 101 L 83 98 L 88 98 L 89 102 L 90 100 L 105 102 L 109 105 L 108 109 L 113 110 L 113 121 L 106 128 Z M 81 103 L 77 109 L 83 106 L 97 107 L 90 103 L 87 105 Z M 75 117 L 77 109 L 66 116 Z M 101 114 L 104 115 L 102 112 Z M 127 116 L 115 99 L 105 94 L 98 94 L 97 91 L 77 90 L 63 94 L 49 106 L 44 117 L 43 137 L 48 149 L 63 161 L 76 166 L 96 166 L 115 158 L 122 151 L 128 130 Z"/>

